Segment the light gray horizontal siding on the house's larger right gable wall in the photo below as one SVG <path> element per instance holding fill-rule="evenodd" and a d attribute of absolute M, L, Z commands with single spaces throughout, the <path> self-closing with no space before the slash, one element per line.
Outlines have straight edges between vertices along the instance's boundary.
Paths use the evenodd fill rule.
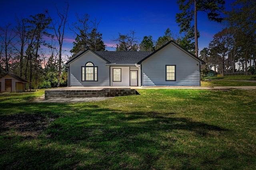
<path fill-rule="evenodd" d="M 166 65 L 176 65 L 175 81 L 166 81 Z M 142 62 L 141 86 L 200 86 L 200 63 L 172 43 Z"/>

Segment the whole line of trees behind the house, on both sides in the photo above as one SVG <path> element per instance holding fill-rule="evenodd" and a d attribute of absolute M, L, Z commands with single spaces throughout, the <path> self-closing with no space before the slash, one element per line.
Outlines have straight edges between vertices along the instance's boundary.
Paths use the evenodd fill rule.
<path fill-rule="evenodd" d="M 177 3 L 182 11 L 176 14 L 179 33 L 167 28 L 157 41 L 151 35 L 140 41 L 132 30 L 126 34 L 118 33 L 118 37 L 112 39 L 116 51 L 155 51 L 173 40 L 206 62 L 202 66 L 205 74 L 212 68 L 222 74 L 236 71 L 256 74 L 255 1 L 237 0 L 230 11 L 224 11 L 223 0 L 178 0 Z M 63 9 L 56 7 L 56 18 L 46 10 L 29 18 L 16 17 L 12 24 L 0 27 L 0 77 L 19 75 L 31 82 L 29 88 L 67 86 L 67 73 L 62 67 L 66 60 L 88 48 L 106 50 L 102 34 L 98 31 L 100 20 L 91 20 L 89 14 L 76 14 L 76 21 L 70 22 L 67 20 L 68 7 L 68 3 Z M 209 20 L 221 22 L 225 27 L 200 53 L 197 51 L 197 39 L 200 37 L 197 12 L 206 12 Z M 220 17 L 222 12 L 225 18 Z M 62 49 L 67 30 L 75 35 L 70 50 L 72 56 Z"/>

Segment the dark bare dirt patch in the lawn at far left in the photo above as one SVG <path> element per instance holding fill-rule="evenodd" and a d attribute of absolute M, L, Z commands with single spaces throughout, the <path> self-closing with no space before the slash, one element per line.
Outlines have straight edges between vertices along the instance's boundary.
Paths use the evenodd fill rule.
<path fill-rule="evenodd" d="M 49 118 L 45 115 L 14 114 L 5 115 L 0 119 L 0 133 L 20 135 L 26 138 L 36 138 L 48 127 L 56 117 Z"/>

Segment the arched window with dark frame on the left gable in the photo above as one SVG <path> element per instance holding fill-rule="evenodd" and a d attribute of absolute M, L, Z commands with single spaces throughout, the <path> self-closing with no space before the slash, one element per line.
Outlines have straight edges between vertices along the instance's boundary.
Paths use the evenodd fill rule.
<path fill-rule="evenodd" d="M 98 67 L 88 62 L 82 67 L 82 81 L 98 81 Z"/>

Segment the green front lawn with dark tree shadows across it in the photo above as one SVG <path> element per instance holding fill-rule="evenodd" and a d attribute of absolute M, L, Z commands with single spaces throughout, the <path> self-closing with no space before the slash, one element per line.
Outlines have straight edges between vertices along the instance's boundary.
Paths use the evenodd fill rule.
<path fill-rule="evenodd" d="M 102 102 L 0 95 L 0 169 L 255 169 L 256 90 L 138 90 Z"/>

